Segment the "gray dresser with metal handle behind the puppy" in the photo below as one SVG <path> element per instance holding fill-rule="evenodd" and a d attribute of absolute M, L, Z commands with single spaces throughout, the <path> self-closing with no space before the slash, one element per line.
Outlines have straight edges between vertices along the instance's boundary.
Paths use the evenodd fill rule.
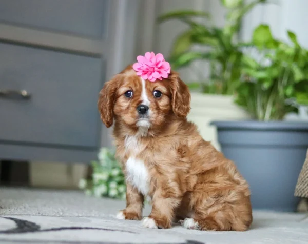
<path fill-rule="evenodd" d="M 97 157 L 108 0 L 0 0 L 0 160 Z"/>

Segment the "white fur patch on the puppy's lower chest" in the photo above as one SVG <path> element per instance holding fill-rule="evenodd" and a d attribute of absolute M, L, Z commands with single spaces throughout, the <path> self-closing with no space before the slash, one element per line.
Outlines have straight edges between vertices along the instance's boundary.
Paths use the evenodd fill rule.
<path fill-rule="evenodd" d="M 148 194 L 148 171 L 140 159 L 129 157 L 126 162 L 127 180 L 136 187 L 144 196 Z"/>

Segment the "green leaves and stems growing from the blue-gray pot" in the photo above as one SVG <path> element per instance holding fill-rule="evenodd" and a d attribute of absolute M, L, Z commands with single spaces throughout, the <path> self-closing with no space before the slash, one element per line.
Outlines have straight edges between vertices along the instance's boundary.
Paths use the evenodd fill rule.
<path fill-rule="evenodd" d="M 268 25 L 260 25 L 252 40 L 259 55 L 243 55 L 236 103 L 254 119 L 281 120 L 297 111 L 294 105 L 308 105 L 308 52 L 293 32 L 287 34 L 291 45 L 275 39 Z"/>

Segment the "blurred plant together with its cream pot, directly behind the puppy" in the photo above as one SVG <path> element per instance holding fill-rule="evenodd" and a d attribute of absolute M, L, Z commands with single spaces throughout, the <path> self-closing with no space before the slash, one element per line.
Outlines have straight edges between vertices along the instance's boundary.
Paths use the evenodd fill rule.
<path fill-rule="evenodd" d="M 250 45 L 240 42 L 237 35 L 243 16 L 264 2 L 255 0 L 245 4 L 243 0 L 221 0 L 227 9 L 222 28 L 204 24 L 204 20 L 210 21 L 210 14 L 200 11 L 168 12 L 158 19 L 159 23 L 177 19 L 188 26 L 176 38 L 170 52 L 168 61 L 172 69 L 193 68 L 192 63 L 196 60 L 209 62 L 209 77 L 201 74 L 197 83 L 189 81 L 187 84 L 191 89 L 191 112 L 188 118 L 197 124 L 201 135 L 217 149 L 216 129 L 209 125 L 210 120 L 249 118 L 243 109 L 233 103 L 232 97 L 239 85 L 242 47 Z"/>

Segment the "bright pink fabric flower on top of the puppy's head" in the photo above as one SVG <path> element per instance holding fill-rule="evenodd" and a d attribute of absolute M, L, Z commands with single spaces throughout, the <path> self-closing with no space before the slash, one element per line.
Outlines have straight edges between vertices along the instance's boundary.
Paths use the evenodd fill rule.
<path fill-rule="evenodd" d="M 137 57 L 138 63 L 133 64 L 132 68 L 137 71 L 137 75 L 144 80 L 155 82 L 162 80 L 170 74 L 170 64 L 165 61 L 163 54 L 147 52 L 144 56 Z"/>

